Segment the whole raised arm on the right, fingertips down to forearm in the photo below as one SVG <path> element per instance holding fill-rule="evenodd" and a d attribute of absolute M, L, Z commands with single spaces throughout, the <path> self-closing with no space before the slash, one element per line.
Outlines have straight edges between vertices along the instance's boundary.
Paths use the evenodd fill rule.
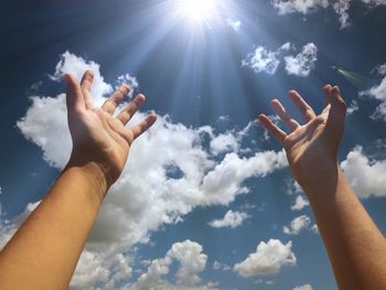
<path fill-rule="evenodd" d="M 278 100 L 272 107 L 286 133 L 265 115 L 261 123 L 281 142 L 293 176 L 305 191 L 340 289 L 386 289 L 386 241 L 339 168 L 345 103 L 337 87 L 324 87 L 328 105 L 317 116 L 294 90 L 289 97 L 305 119 L 298 123 Z"/>

